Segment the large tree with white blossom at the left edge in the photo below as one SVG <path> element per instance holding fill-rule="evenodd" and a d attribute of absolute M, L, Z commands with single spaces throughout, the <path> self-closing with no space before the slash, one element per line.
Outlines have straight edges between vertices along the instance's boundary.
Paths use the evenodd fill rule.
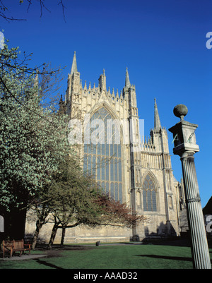
<path fill-rule="evenodd" d="M 4 213 L 27 207 L 70 152 L 66 116 L 58 116 L 52 105 L 42 107 L 36 68 L 28 68 L 25 58 L 19 59 L 18 48 L 8 49 L 5 44 L 1 49 L 0 208 Z"/>

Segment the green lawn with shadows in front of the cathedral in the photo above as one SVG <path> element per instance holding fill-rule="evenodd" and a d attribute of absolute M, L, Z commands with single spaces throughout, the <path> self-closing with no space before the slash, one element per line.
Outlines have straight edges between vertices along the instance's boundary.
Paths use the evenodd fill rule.
<path fill-rule="evenodd" d="M 212 249 L 210 251 L 212 258 Z M 190 248 L 184 246 L 108 245 L 87 247 L 82 250 L 75 250 L 73 247 L 73 250 L 61 251 L 59 257 L 1 260 L 0 268 L 190 269 L 192 255 Z"/>

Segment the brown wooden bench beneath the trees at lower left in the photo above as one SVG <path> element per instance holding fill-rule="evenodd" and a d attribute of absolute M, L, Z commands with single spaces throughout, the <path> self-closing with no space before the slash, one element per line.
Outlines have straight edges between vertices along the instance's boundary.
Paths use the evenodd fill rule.
<path fill-rule="evenodd" d="M 9 253 L 10 257 L 13 256 L 13 254 L 16 251 L 20 252 L 20 256 L 24 251 L 28 251 L 30 255 L 31 251 L 31 245 L 25 244 L 22 240 L 13 240 L 13 241 L 2 241 L 2 247 L 3 247 L 3 258 L 6 253 Z"/>

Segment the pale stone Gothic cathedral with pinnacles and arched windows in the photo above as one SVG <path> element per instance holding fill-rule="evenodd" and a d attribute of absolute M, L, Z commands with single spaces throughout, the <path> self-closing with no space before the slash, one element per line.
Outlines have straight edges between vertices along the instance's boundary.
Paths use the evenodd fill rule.
<path fill-rule="evenodd" d="M 150 136 L 143 139 L 136 88 L 130 83 L 128 69 L 120 94 L 107 88 L 105 70 L 93 88 L 87 83 L 83 86 L 80 75 L 74 52 L 65 101 L 60 106 L 69 116 L 73 130 L 70 139 L 79 137 L 75 142 L 81 166 L 93 174 L 106 193 L 127 203 L 145 216 L 146 221 L 133 229 L 111 226 L 66 229 L 65 243 L 179 236 L 187 226 L 186 221 L 182 221 L 186 213 L 184 190 L 172 173 L 167 131 L 160 124 L 156 100 L 153 128 Z M 55 242 L 60 241 L 59 232 Z M 40 238 L 46 236 L 45 225 Z"/>

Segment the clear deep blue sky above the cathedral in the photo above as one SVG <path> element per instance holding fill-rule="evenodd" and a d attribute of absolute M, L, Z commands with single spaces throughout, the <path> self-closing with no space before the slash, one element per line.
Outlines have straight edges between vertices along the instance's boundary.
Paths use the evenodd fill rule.
<path fill-rule="evenodd" d="M 4 0 L 8 16 L 24 21 L 6 22 L 0 29 L 10 40 L 9 47 L 33 52 L 31 66 L 51 62 L 66 66 L 61 91 L 71 71 L 76 51 L 83 84 L 98 85 L 105 68 L 107 88 L 124 87 L 126 66 L 130 82 L 136 85 L 139 117 L 145 119 L 145 134 L 153 127 L 154 97 L 161 124 L 174 126 L 179 119 L 172 110 L 186 104 L 186 120 L 198 124 L 195 155 L 201 204 L 212 195 L 211 189 L 211 76 L 212 49 L 206 48 L 207 32 L 212 32 L 211 0 L 64 0 L 65 18 L 58 0 L 45 0 L 51 11 L 42 11 L 33 1 Z M 172 134 L 168 132 L 172 155 Z M 172 155 L 177 180 L 182 176 L 179 156 Z"/>

